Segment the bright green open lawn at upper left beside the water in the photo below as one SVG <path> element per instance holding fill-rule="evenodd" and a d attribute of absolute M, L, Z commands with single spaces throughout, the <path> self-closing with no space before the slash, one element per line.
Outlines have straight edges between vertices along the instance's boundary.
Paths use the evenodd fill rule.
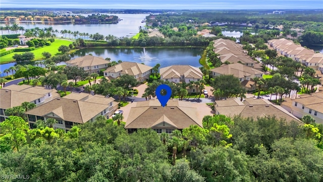
<path fill-rule="evenodd" d="M 72 43 L 72 41 L 55 39 L 55 42 L 52 42 L 51 45 L 44 46 L 42 48 L 38 48 L 38 49 L 36 49 L 34 51 L 30 51 L 30 53 L 34 53 L 34 55 L 35 55 L 35 59 L 33 61 L 43 60 L 44 57 L 41 55 L 41 53 L 49 52 L 51 54 L 51 56 L 58 55 L 58 54 L 60 54 L 60 52 L 58 51 L 59 47 L 61 45 L 67 45 L 68 46 L 70 43 Z M 23 53 L 24 52 L 18 52 L 18 53 L 11 53 L 11 54 L 2 56 L 2 57 L 0 57 L 0 63 L 5 64 L 5 63 L 14 62 L 15 60 L 12 57 L 15 54 L 23 54 Z"/>

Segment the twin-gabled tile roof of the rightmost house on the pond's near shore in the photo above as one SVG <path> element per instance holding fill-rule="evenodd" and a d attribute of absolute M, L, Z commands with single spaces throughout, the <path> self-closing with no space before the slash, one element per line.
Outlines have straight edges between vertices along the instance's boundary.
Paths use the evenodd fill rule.
<path fill-rule="evenodd" d="M 159 69 L 160 77 L 163 79 L 169 78 L 195 78 L 202 79 L 203 73 L 199 68 L 190 65 L 173 65 Z"/>

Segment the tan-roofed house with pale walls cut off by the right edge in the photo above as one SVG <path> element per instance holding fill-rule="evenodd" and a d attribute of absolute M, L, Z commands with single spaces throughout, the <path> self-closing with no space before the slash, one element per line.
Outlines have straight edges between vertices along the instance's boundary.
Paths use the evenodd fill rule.
<path fill-rule="evenodd" d="M 297 118 L 310 115 L 315 119 L 316 123 L 323 124 L 323 91 L 299 97 L 283 102 L 282 107 Z"/>

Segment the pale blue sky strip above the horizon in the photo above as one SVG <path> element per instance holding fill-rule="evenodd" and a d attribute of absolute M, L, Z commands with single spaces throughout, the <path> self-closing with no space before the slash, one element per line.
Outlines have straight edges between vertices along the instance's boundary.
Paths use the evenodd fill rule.
<path fill-rule="evenodd" d="M 323 0 L 1 0 L 1 8 L 323 9 Z"/>

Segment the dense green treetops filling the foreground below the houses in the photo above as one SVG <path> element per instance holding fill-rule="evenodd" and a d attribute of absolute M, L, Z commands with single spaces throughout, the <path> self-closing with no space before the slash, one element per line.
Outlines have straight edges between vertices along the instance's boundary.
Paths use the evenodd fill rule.
<path fill-rule="evenodd" d="M 67 133 L 55 121 L 28 130 L 11 116 L 1 124 L 0 173 L 31 181 L 321 181 L 323 127 L 306 121 L 206 116 L 204 128 L 158 135 L 128 134 L 102 118 Z"/>

